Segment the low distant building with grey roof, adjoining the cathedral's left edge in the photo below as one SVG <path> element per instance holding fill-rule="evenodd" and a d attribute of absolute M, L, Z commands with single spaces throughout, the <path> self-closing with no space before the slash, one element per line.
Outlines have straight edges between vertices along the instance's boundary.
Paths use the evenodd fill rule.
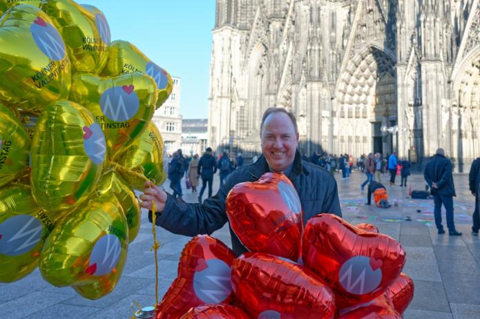
<path fill-rule="evenodd" d="M 208 120 L 184 119 L 182 121 L 182 153 L 202 156 L 208 147 Z"/>

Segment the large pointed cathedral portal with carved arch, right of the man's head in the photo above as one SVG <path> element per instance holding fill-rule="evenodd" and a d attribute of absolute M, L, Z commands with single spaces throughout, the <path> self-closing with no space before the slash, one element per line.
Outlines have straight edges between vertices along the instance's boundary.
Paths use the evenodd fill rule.
<path fill-rule="evenodd" d="M 378 142 L 382 148 L 388 145 L 388 135 L 379 132 L 385 123 L 396 124 L 394 65 L 394 57 L 376 46 L 368 46 L 347 64 L 336 92 L 337 153 L 358 156 L 374 151 Z"/>

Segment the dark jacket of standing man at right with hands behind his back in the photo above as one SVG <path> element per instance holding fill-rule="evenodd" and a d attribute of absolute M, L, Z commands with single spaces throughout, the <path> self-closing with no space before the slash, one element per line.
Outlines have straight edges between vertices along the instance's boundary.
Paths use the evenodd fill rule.
<path fill-rule="evenodd" d="M 453 184 L 452 162 L 444 155 L 434 155 L 425 167 L 423 177 L 425 177 L 425 181 L 427 181 L 430 187 L 432 187 L 432 183 L 436 183 L 436 189 L 432 188 L 432 195 L 456 196 Z"/>

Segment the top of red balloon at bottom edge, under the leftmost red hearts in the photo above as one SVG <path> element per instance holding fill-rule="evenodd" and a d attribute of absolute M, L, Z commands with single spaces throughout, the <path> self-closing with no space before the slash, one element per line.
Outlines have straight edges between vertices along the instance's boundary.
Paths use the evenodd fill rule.
<path fill-rule="evenodd" d="M 180 319 L 249 319 L 242 309 L 231 305 L 202 305 L 189 310 Z"/>

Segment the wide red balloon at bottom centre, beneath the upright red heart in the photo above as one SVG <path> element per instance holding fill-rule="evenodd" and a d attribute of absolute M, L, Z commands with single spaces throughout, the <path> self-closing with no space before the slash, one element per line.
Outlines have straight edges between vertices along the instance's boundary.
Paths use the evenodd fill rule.
<path fill-rule="evenodd" d="M 332 291 L 304 267 L 267 253 L 233 261 L 235 297 L 253 318 L 334 318 Z"/>

